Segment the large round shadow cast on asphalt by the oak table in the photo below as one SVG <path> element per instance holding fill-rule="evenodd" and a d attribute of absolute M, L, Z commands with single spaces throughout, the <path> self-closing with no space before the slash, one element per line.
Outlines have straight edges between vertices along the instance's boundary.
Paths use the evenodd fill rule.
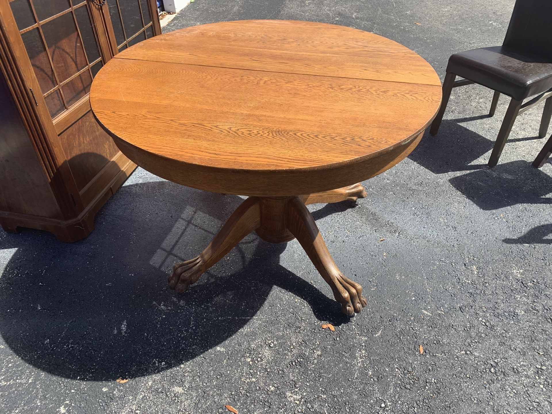
<path fill-rule="evenodd" d="M 168 289 L 172 264 L 208 245 L 241 201 L 165 181 L 132 184 L 104 206 L 85 240 L 4 233 L 0 248 L 17 251 L 0 277 L 0 335 L 48 373 L 113 380 L 161 372 L 224 342 L 274 285 L 304 299 L 317 319 L 347 322 L 335 300 L 279 265 L 285 244 L 256 235 L 186 293 Z M 333 211 L 339 206 L 315 213 Z"/>

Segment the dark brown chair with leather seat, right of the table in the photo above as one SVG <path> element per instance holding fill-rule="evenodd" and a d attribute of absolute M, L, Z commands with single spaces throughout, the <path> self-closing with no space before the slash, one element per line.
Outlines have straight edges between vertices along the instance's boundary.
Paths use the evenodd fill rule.
<path fill-rule="evenodd" d="M 464 79 L 456 81 L 457 76 Z M 450 56 L 443 82 L 443 102 L 431 124 L 431 135 L 439 130 L 452 88 L 472 83 L 495 91 L 490 116 L 495 114 L 501 93 L 512 98 L 489 167 L 496 166 L 516 117 L 544 99 L 539 137 L 546 136 L 552 116 L 552 0 L 517 0 L 502 46 Z M 523 103 L 533 95 L 537 96 Z"/>

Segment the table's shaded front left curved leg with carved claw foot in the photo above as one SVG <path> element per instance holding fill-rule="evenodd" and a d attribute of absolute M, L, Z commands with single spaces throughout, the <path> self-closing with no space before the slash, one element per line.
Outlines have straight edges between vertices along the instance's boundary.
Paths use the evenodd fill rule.
<path fill-rule="evenodd" d="M 201 274 L 230 252 L 237 243 L 261 225 L 259 198 L 250 197 L 232 213 L 213 241 L 198 257 L 174 265 L 169 288 L 183 293 Z"/>

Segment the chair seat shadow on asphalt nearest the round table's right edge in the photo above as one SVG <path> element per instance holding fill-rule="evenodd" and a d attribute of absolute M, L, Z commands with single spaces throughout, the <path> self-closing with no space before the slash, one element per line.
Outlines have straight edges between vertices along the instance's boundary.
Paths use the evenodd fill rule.
<path fill-rule="evenodd" d="M 439 133 L 429 135 L 426 131 L 408 158 L 434 174 L 471 171 L 486 167 L 486 164 L 470 164 L 494 145 L 493 141 L 459 125 L 455 120 L 443 120 Z"/>

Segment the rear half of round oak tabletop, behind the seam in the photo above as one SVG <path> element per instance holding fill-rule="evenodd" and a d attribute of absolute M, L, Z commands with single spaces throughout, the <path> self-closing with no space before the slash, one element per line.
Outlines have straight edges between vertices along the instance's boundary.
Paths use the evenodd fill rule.
<path fill-rule="evenodd" d="M 241 20 L 175 30 L 119 59 L 440 86 L 422 57 L 395 41 L 333 24 Z"/>

